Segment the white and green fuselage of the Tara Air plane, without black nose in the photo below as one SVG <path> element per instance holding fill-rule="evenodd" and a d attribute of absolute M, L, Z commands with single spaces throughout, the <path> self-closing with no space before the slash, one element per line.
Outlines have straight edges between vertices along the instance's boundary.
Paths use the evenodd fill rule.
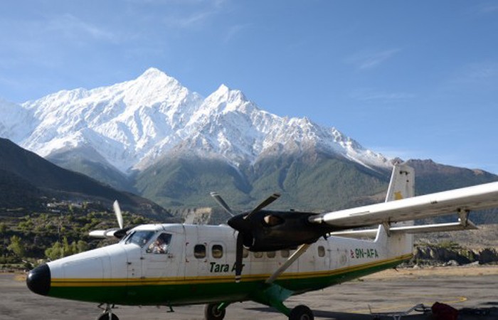
<path fill-rule="evenodd" d="M 154 241 L 166 234 L 164 253 Z M 30 289 L 50 297 L 129 305 L 182 305 L 262 300 L 262 287 L 295 250 L 244 251 L 234 281 L 235 239 L 230 227 L 141 225 L 115 245 L 48 262 Z M 412 257 L 411 235 L 376 240 L 329 237 L 314 242 L 275 280 L 287 295 L 322 289 L 398 265 Z M 48 270 L 48 271 L 47 271 Z M 264 302 L 264 299 L 263 299 Z"/>

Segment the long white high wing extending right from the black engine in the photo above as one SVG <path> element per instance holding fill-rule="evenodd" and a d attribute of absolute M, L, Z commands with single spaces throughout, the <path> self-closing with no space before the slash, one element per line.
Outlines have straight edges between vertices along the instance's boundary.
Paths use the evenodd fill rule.
<path fill-rule="evenodd" d="M 309 222 L 344 230 L 489 208 L 498 208 L 498 182 L 322 213 L 309 217 Z"/>

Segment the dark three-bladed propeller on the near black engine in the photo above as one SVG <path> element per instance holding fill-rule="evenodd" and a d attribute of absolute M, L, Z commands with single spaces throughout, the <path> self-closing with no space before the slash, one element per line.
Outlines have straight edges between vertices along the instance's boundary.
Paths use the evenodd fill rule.
<path fill-rule="evenodd" d="M 223 208 L 227 213 L 229 213 L 232 218 L 228 220 L 228 225 L 230 225 L 233 229 L 238 231 L 237 242 L 235 245 L 235 282 L 240 282 L 241 274 L 242 274 L 242 258 L 243 258 L 243 250 L 244 250 L 244 238 L 246 233 L 250 236 L 250 229 L 252 227 L 252 223 L 250 222 L 250 218 L 258 213 L 260 210 L 263 210 L 266 206 L 269 206 L 273 201 L 277 200 L 280 197 L 279 193 L 273 193 L 271 196 L 265 199 L 265 201 L 261 202 L 256 208 L 254 208 L 250 213 L 241 217 L 240 215 L 235 215 L 233 210 L 228 206 L 228 204 L 221 198 L 221 196 L 216 192 L 211 192 L 211 196 L 216 200 L 216 202 Z"/>

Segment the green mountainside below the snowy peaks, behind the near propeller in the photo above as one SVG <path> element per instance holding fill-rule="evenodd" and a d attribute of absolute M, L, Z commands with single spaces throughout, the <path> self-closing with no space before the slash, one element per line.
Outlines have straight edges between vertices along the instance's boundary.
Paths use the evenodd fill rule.
<path fill-rule="evenodd" d="M 368 197 L 386 191 L 389 173 L 351 161 L 317 155 L 265 159 L 235 169 L 219 159 L 166 159 L 137 176 L 142 196 L 166 208 L 215 206 L 217 191 L 236 210 L 249 210 L 272 193 L 280 193 L 274 209 L 331 210 L 351 203 L 371 203 Z"/>

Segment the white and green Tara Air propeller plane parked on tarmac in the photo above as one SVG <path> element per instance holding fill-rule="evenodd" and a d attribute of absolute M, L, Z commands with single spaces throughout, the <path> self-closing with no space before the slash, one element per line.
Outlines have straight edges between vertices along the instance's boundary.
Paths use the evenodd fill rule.
<path fill-rule="evenodd" d="M 170 311 L 206 304 L 204 319 L 220 320 L 230 304 L 245 301 L 312 320 L 308 306 L 290 309 L 285 300 L 396 267 L 413 257 L 414 233 L 476 229 L 470 211 L 498 207 L 498 182 L 414 196 L 414 178 L 410 166 L 396 164 L 384 203 L 329 213 L 266 210 L 279 197 L 273 194 L 237 215 L 212 193 L 232 215 L 228 225 L 124 228 L 116 202 L 120 228 L 90 235 L 120 242 L 40 265 L 26 284 L 36 294 L 100 304 L 98 320 L 118 320 L 117 304 Z M 455 223 L 413 223 L 455 213 Z"/>

